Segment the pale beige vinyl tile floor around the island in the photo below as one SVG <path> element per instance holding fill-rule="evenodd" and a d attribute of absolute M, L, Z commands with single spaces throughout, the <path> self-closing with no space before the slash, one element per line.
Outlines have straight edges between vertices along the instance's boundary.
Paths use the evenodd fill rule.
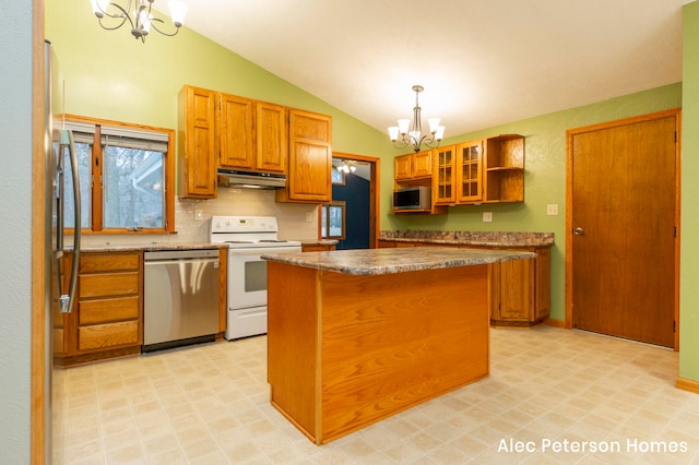
<path fill-rule="evenodd" d="M 266 337 L 56 370 L 56 464 L 690 464 L 676 353 L 490 330 L 490 375 L 317 446 L 269 402 Z"/>

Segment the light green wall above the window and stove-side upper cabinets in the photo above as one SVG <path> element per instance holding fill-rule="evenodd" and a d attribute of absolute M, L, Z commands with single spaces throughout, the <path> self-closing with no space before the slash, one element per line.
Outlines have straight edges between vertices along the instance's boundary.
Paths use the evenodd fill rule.
<path fill-rule="evenodd" d="M 66 81 L 59 112 L 176 128 L 177 93 L 189 84 L 331 115 L 335 151 L 379 156 L 390 148 L 380 131 L 187 27 L 142 44 L 127 26 L 99 27 L 87 0 L 47 0 L 46 38 Z"/>

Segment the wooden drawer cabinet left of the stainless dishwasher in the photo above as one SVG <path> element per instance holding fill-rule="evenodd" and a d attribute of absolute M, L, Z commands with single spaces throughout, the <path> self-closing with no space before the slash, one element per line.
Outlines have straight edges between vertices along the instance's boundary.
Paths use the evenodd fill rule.
<path fill-rule="evenodd" d="M 141 353 L 143 253 L 83 252 L 76 299 L 64 314 L 62 366 Z"/>

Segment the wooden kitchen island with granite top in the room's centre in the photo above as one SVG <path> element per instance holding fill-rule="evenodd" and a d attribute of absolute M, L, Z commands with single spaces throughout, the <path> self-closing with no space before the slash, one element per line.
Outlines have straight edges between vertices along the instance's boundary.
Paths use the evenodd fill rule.
<path fill-rule="evenodd" d="M 272 405 L 316 444 L 488 374 L 488 266 L 419 247 L 263 255 Z"/>

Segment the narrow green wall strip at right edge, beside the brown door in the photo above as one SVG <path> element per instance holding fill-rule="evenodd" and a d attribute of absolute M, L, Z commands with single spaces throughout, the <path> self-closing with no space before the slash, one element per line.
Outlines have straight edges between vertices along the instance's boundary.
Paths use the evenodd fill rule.
<path fill-rule="evenodd" d="M 699 2 L 683 9 L 679 377 L 699 381 Z"/>

